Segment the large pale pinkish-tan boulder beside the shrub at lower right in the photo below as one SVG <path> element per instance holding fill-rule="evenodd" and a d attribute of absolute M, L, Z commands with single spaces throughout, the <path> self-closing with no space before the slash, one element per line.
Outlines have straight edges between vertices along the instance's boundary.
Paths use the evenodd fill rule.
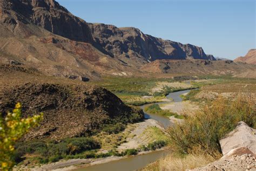
<path fill-rule="evenodd" d="M 256 154 L 256 129 L 240 121 L 232 132 L 220 140 L 220 146 L 223 155 L 241 147 L 246 147 Z"/>

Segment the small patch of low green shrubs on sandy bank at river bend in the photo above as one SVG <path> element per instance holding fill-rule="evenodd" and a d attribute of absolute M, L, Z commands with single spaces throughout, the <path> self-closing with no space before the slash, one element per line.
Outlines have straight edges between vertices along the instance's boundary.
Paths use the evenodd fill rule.
<path fill-rule="evenodd" d="M 184 117 L 182 115 L 179 115 L 177 113 L 173 113 L 167 110 L 162 110 L 158 104 L 153 104 L 145 107 L 145 111 L 151 114 L 159 114 L 164 117 L 172 117 L 174 116 L 177 119 L 183 119 Z"/>

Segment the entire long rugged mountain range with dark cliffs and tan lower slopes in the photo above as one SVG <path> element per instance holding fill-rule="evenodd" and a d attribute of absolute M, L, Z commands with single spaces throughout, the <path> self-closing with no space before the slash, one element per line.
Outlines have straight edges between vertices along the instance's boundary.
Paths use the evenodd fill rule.
<path fill-rule="evenodd" d="M 198 46 L 86 23 L 54 0 L 0 0 L 0 38 L 0 63 L 82 80 L 139 74 L 157 59 L 214 60 Z"/>

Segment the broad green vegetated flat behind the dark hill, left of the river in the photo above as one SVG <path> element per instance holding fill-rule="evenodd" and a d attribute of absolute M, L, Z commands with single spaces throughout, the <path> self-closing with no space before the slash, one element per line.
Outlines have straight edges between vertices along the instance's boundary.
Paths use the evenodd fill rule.
<path fill-rule="evenodd" d="M 181 77 L 181 80 L 185 78 Z M 116 94 L 125 104 L 134 106 L 161 102 L 168 93 L 197 88 L 197 86 L 191 88 L 166 86 L 163 88 L 163 91 L 152 93 L 152 88 L 156 87 L 157 83 L 172 83 L 174 81 L 176 80 L 170 78 L 106 77 L 100 81 L 90 82 L 89 84 L 103 86 Z M 152 97 L 143 98 L 144 95 L 152 95 Z"/>

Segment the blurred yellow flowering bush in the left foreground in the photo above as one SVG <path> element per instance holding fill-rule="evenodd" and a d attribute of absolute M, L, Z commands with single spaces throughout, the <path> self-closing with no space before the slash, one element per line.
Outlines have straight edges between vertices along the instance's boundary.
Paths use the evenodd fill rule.
<path fill-rule="evenodd" d="M 11 170 L 14 166 L 11 156 L 15 151 L 15 143 L 30 128 L 38 126 L 38 123 L 43 119 L 43 113 L 30 118 L 22 118 L 21 109 L 22 106 L 18 103 L 5 118 L 0 115 L 0 166 L 2 170 Z"/>

